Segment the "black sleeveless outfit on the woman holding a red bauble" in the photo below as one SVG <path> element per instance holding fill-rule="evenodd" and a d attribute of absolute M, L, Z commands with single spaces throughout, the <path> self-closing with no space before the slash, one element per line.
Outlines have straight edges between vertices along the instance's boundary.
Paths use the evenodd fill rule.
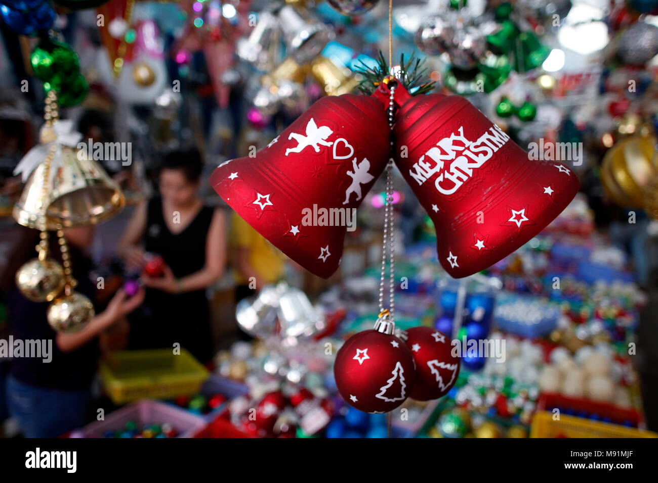
<path fill-rule="evenodd" d="M 206 238 L 213 208 L 203 206 L 180 233 L 171 233 L 163 218 L 161 198 L 152 198 L 147 208 L 145 251 L 164 259 L 180 279 L 203 269 Z M 201 363 L 213 357 L 210 309 L 205 289 L 168 294 L 146 289 L 143 305 L 130 317 L 131 349 L 173 348 L 178 342 Z"/>

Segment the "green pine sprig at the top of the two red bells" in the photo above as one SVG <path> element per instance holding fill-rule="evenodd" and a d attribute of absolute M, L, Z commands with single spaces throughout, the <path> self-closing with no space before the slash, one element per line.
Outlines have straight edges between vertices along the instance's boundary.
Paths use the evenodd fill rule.
<path fill-rule="evenodd" d="M 382 51 L 379 51 L 376 66 L 369 67 L 363 63 L 363 60 L 360 62 L 361 66 L 356 68 L 356 71 L 363 76 L 363 80 L 359 82 L 359 90 L 364 94 L 370 95 L 376 91 L 377 86 L 384 78 L 390 76 L 390 68 Z M 434 90 L 434 81 L 428 79 L 426 74 L 427 68 L 423 66 L 424 63 L 425 59 L 416 57 L 415 53 L 411 54 L 406 63 L 405 55 L 400 55 L 399 81 L 411 95 L 426 94 Z M 414 88 L 417 89 L 413 90 Z"/>

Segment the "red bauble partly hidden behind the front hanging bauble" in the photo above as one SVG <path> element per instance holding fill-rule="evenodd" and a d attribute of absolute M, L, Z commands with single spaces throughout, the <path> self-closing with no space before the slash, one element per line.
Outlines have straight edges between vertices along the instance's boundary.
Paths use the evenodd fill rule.
<path fill-rule="evenodd" d="M 409 397 L 429 401 L 445 396 L 459 375 L 459 357 L 451 354 L 450 338 L 432 327 L 413 327 L 405 334 L 416 363 L 416 382 Z"/>

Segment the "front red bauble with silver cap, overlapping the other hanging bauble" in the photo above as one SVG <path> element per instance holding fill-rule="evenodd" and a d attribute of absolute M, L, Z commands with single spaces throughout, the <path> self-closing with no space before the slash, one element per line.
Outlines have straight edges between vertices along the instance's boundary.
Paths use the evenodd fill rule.
<path fill-rule="evenodd" d="M 415 380 L 413 357 L 393 335 L 388 312 L 373 330 L 345 341 L 336 354 L 334 377 L 343 399 L 367 413 L 392 411 L 407 399 Z"/>

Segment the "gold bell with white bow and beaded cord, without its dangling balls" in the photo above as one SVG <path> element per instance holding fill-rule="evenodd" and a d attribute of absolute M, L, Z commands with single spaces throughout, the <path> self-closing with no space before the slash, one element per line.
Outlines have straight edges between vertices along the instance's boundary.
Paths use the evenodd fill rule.
<path fill-rule="evenodd" d="M 93 225 L 114 216 L 124 207 L 119 186 L 93 159 L 77 149 L 82 134 L 72 130 L 71 120 L 59 120 L 57 96 L 49 91 L 45 100 L 45 124 L 39 132 L 39 145 L 30 149 L 16 166 L 26 185 L 14 206 L 18 223 L 55 230 L 58 225 Z"/>

